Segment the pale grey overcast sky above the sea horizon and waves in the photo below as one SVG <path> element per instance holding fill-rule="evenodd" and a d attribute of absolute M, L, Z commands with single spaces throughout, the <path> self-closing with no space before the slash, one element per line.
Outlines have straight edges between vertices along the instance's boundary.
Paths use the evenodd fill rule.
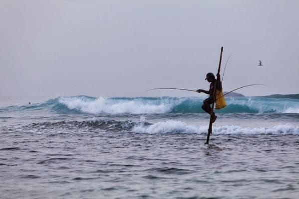
<path fill-rule="evenodd" d="M 299 93 L 298 0 L 0 0 L 0 95 Z M 259 67 L 258 60 L 264 66 Z M 221 74 L 222 74 L 221 72 Z"/>

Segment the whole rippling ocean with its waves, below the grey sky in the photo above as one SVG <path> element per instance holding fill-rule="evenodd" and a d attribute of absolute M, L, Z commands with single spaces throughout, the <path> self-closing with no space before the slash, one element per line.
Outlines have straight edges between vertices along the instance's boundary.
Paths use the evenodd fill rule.
<path fill-rule="evenodd" d="M 1 199 L 298 199 L 299 95 L 0 97 Z M 28 102 L 31 102 L 28 104 Z"/>

